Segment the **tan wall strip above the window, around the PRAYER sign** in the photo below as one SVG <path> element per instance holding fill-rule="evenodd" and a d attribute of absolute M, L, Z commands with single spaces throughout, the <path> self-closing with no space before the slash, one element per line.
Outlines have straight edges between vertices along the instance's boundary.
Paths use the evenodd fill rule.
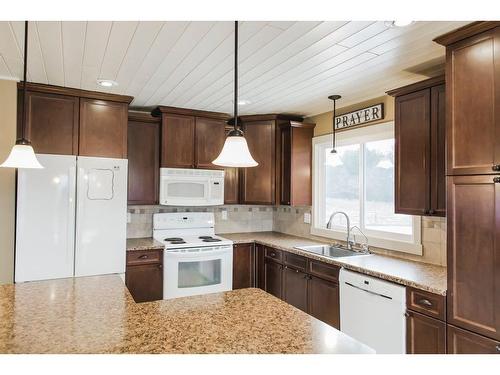
<path fill-rule="evenodd" d="M 339 105 L 341 101 L 342 99 L 340 99 L 340 101 L 337 102 L 337 105 Z M 343 115 L 344 113 L 347 112 L 356 111 L 361 108 L 369 107 L 371 105 L 378 103 L 384 103 L 384 118 L 379 121 L 370 122 L 369 124 L 367 124 L 367 126 L 394 120 L 394 98 L 389 95 L 367 100 L 366 102 L 361 102 L 349 107 L 337 108 L 337 116 Z M 330 134 L 332 132 L 332 120 L 333 120 L 333 112 L 325 112 L 316 116 L 309 117 L 305 121 L 313 122 L 316 124 L 316 127 L 314 128 L 314 136 L 317 137 L 324 134 Z M 341 131 L 346 131 L 346 130 L 339 130 L 339 132 Z"/>

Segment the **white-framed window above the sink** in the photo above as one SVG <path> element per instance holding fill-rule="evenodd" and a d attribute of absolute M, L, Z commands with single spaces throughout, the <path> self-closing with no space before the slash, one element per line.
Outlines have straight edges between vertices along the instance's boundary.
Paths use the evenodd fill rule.
<path fill-rule="evenodd" d="M 370 246 L 422 254 L 420 217 L 394 213 L 394 125 L 392 122 L 313 139 L 313 225 L 311 233 L 346 239 L 344 211 Z M 353 231 L 356 235 L 356 232 Z M 356 238 L 358 240 L 358 238 Z"/>

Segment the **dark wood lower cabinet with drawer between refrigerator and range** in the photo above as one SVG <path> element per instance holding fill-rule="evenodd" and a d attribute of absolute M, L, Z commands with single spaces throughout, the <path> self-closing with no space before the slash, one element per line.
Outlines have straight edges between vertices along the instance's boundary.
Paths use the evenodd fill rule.
<path fill-rule="evenodd" d="M 163 250 L 127 252 L 125 285 L 135 302 L 163 299 Z"/>

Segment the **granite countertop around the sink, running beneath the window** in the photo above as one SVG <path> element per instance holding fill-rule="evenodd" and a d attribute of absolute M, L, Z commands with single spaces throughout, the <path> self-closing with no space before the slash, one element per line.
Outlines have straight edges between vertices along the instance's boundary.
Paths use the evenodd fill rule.
<path fill-rule="evenodd" d="M 366 275 L 431 293 L 446 295 L 446 267 L 377 254 L 335 259 L 327 258 L 295 248 L 296 246 L 324 245 L 326 241 L 320 242 L 278 232 L 224 233 L 221 236 L 232 240 L 234 243 L 258 242 L 308 258 L 336 264 Z"/>

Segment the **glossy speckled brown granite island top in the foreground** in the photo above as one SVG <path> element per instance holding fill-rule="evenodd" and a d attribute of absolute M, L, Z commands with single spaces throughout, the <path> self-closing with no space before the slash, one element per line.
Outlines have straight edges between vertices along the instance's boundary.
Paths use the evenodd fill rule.
<path fill-rule="evenodd" d="M 372 353 L 259 289 L 136 304 L 114 275 L 0 286 L 0 353 Z"/>

